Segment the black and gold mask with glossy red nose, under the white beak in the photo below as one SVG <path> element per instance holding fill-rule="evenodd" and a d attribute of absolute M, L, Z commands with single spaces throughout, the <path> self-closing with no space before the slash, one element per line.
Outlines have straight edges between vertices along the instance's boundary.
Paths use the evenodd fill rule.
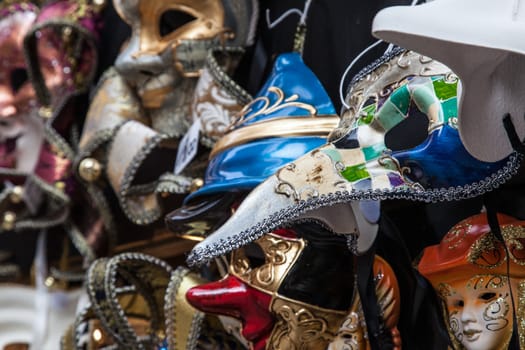
<path fill-rule="evenodd" d="M 377 264 L 378 289 L 383 289 L 379 303 L 389 305 L 383 314 L 395 320 L 399 304 L 389 298 L 399 297 L 397 282 L 387 264 Z M 186 298 L 199 310 L 241 320 L 242 335 L 258 350 L 325 349 L 337 342 L 336 334 L 353 313 L 347 333 L 355 337 L 357 349 L 366 349 L 353 266 L 344 237 L 318 225 L 296 225 L 235 250 L 229 275 L 190 289 Z"/>

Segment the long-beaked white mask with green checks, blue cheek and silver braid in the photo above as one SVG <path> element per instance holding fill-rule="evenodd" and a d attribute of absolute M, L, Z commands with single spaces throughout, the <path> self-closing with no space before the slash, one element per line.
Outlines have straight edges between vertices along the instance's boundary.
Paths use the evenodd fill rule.
<path fill-rule="evenodd" d="M 457 78 L 438 62 L 401 49 L 383 56 L 353 80 L 347 96 L 352 109 L 343 111 L 330 142 L 252 191 L 228 222 L 193 249 L 188 262 L 202 263 L 308 217 L 324 221 L 335 233 L 370 238 L 367 220 L 359 209 L 349 208 L 355 201 L 453 200 L 497 187 L 516 172 L 518 157 L 485 163 L 466 152 L 455 128 L 456 89 Z M 387 133 L 417 115 L 428 121 L 425 140 L 389 149 Z M 346 206 L 353 220 L 341 225 L 350 214 L 328 217 L 338 206 Z M 357 244 L 356 252 L 362 251 Z"/>

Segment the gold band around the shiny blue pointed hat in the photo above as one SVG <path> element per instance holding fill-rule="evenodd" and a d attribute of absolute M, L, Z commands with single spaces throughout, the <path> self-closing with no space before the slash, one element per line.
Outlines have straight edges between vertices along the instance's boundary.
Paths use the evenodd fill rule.
<path fill-rule="evenodd" d="M 247 125 L 224 135 L 211 150 L 210 159 L 229 148 L 267 137 L 319 136 L 326 137 L 339 124 L 335 114 L 312 118 L 288 117 Z"/>

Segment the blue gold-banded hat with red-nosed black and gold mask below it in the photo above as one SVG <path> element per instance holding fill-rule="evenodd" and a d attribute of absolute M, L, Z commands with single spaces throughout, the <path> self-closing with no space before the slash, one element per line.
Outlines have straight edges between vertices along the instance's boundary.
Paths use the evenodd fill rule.
<path fill-rule="evenodd" d="M 203 239 L 245 193 L 279 167 L 324 144 L 338 121 L 324 88 L 301 56 L 278 56 L 259 94 L 212 149 L 204 186 L 167 216 L 168 226 L 183 237 Z M 355 317 L 347 320 L 352 331 L 341 334 L 353 332 L 364 349 L 366 330 L 361 327 L 364 316 L 359 315 L 353 266 L 345 237 L 334 237 L 316 224 L 295 225 L 234 251 L 228 276 L 191 289 L 187 298 L 203 312 L 239 319 L 242 337 L 256 349 L 326 348 L 336 342 L 352 309 Z M 397 287 L 390 282 L 388 288 Z M 388 298 L 395 295 L 399 293 L 388 293 Z M 398 301 L 383 303 L 399 310 Z M 395 324 L 386 328 L 394 330 Z"/>

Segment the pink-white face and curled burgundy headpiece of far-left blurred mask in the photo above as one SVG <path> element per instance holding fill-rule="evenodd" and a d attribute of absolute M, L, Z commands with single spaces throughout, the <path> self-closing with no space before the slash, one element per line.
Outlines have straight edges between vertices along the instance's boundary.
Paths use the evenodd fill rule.
<path fill-rule="evenodd" d="M 81 6 L 84 13 L 78 14 Z M 20 1 L 7 2 L 0 12 L 0 47 L 6 53 L 0 63 L 0 165 L 35 171 L 51 182 L 55 174 L 37 165 L 54 158 L 49 148 L 40 152 L 44 124 L 52 123 L 71 94 L 89 85 L 96 10 L 84 2 L 55 1 L 39 9 Z"/>

